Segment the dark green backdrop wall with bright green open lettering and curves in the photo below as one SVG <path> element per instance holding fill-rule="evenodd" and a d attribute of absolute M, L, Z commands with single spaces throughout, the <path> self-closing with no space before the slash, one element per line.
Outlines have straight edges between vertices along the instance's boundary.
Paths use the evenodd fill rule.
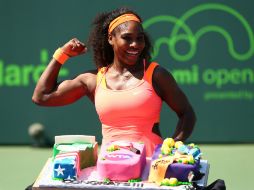
<path fill-rule="evenodd" d="M 96 135 L 101 128 L 88 98 L 65 107 L 32 103 L 35 83 L 55 49 L 73 37 L 86 41 L 97 13 L 127 5 L 143 18 L 153 59 L 167 68 L 197 114 L 189 139 L 204 143 L 254 142 L 254 13 L 251 0 L 0 1 L 0 143 L 27 144 L 28 128 Z M 92 54 L 70 59 L 59 80 L 94 68 Z M 128 101 L 128 100 L 123 100 Z M 151 105 L 152 106 L 152 105 Z M 177 117 L 166 105 L 161 131 Z"/>

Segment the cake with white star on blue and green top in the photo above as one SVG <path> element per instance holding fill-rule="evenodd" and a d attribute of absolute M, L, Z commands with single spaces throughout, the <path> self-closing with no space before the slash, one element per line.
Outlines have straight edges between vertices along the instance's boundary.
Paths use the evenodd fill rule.
<path fill-rule="evenodd" d="M 82 169 L 96 165 L 97 151 L 98 144 L 94 136 L 56 136 L 53 147 L 53 179 L 78 179 Z"/>

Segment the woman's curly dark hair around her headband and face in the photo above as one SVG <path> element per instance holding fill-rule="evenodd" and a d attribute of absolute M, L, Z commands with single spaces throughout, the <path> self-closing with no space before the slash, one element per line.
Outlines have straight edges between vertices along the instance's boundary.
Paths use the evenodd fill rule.
<path fill-rule="evenodd" d="M 108 27 L 112 20 L 126 13 L 135 14 L 142 22 L 137 13 L 127 7 L 121 7 L 110 12 L 97 15 L 93 21 L 93 29 L 88 39 L 88 46 L 92 47 L 93 58 L 97 68 L 107 66 L 113 62 L 114 52 L 108 42 Z M 112 32 L 114 34 L 114 31 Z M 141 59 L 150 60 L 151 42 L 146 33 L 144 33 L 145 48 L 140 55 Z"/>

